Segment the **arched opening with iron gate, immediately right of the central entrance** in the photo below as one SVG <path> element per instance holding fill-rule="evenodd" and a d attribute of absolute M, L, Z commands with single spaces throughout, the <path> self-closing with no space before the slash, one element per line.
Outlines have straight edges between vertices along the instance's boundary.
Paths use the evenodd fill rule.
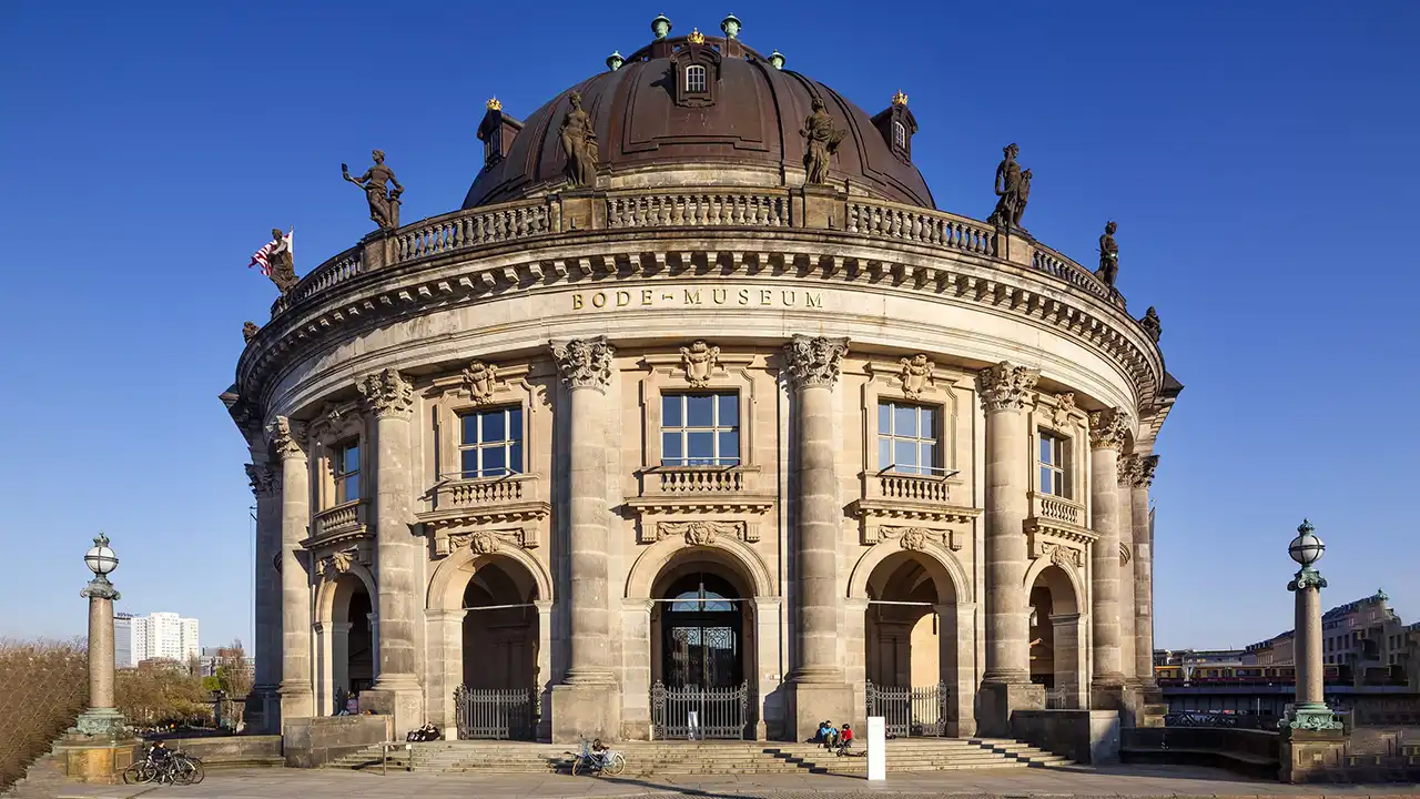
<path fill-rule="evenodd" d="M 873 567 L 866 590 L 866 715 L 882 715 L 899 736 L 949 735 L 958 648 L 951 579 L 926 554 L 900 550 Z"/>

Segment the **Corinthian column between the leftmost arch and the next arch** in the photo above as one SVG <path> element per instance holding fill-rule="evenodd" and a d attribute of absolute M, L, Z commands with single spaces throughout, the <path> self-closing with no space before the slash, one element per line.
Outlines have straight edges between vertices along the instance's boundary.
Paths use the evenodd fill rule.
<path fill-rule="evenodd" d="M 379 614 L 379 677 L 369 702 L 395 717 L 395 729 L 423 724 L 423 691 L 419 687 L 416 624 L 420 617 L 419 557 L 423 550 L 410 522 L 409 418 L 415 412 L 415 387 L 396 370 L 361 378 L 366 429 L 375 452 L 375 587 Z"/>

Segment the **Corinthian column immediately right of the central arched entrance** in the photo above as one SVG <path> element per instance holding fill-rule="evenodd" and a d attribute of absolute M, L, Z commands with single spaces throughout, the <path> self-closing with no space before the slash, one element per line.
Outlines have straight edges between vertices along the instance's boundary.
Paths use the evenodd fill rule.
<path fill-rule="evenodd" d="M 798 428 L 798 657 L 792 671 L 797 741 L 825 718 L 856 718 L 853 694 L 838 658 L 838 546 L 843 503 L 838 496 L 834 385 L 848 338 L 794 336 L 784 348 Z"/>

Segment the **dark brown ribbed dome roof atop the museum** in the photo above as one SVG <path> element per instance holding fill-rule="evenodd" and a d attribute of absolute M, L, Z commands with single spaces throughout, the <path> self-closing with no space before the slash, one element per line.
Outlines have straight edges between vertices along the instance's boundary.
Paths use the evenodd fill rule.
<path fill-rule="evenodd" d="M 703 95 L 686 98 L 679 91 L 683 87 L 677 87 L 677 70 L 687 64 L 709 65 L 710 87 Z M 885 138 L 892 129 L 885 119 L 893 109 L 907 114 L 905 104 L 869 117 L 826 85 L 777 68 L 737 38 L 699 34 L 656 40 L 626 57 L 619 68 L 569 87 L 523 122 L 503 117 L 501 107 L 490 101 L 480 138 L 504 141 L 490 142 L 491 156 L 463 208 L 514 200 L 565 182 L 559 127 L 572 92 L 581 94 L 582 108 L 591 117 L 602 172 L 609 168 L 615 176 L 667 168 L 747 166 L 772 171 L 780 183 L 791 186 L 804 179 L 808 146 L 799 129 L 812 114 L 814 100 L 822 98 L 834 128 L 845 134 L 829 163 L 831 185 L 936 208 L 926 181 L 909 159 L 907 142 L 916 124 L 906 122 L 905 142 L 899 146 Z"/>

